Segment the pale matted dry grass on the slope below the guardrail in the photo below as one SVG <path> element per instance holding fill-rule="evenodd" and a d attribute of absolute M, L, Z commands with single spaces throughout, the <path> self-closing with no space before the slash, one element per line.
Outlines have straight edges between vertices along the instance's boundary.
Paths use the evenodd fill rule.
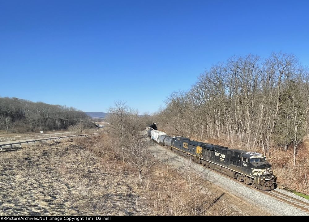
<path fill-rule="evenodd" d="M 1 152 L 0 215 L 147 214 L 129 173 L 95 140 L 92 149 L 84 138 Z"/>

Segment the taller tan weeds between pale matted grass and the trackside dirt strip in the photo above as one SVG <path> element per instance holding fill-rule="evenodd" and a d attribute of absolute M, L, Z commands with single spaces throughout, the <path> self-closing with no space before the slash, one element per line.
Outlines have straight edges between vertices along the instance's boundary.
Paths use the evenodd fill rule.
<path fill-rule="evenodd" d="M 139 189 L 139 194 L 148 196 L 148 206 L 153 215 L 242 215 L 222 196 L 205 188 L 207 181 L 196 172 L 189 182 L 184 173 L 167 172 L 166 166 L 155 164 L 150 176 Z"/>

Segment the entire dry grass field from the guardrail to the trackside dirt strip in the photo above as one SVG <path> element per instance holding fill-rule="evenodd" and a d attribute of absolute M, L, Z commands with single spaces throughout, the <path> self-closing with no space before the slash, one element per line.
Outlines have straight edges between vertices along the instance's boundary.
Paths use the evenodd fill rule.
<path fill-rule="evenodd" d="M 103 135 L 0 153 L 0 215 L 242 215 L 196 172 L 167 172 L 153 157 L 140 184 L 113 141 Z"/>

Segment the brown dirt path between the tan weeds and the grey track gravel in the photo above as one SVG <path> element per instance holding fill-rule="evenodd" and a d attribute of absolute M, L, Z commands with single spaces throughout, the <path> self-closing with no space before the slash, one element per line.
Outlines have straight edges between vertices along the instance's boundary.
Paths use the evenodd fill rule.
<path fill-rule="evenodd" d="M 154 158 L 160 160 L 161 162 L 167 162 L 167 154 L 166 154 L 166 148 L 163 146 L 155 143 L 152 141 L 149 137 L 147 137 L 143 133 L 143 137 L 145 140 L 149 141 L 151 144 L 149 146 L 149 150 L 154 156 Z M 179 171 L 182 173 L 182 168 L 183 168 L 183 160 L 184 157 L 179 156 L 178 154 L 174 152 L 170 152 L 170 157 L 169 157 L 169 166 L 173 168 L 174 170 Z M 255 205 L 255 203 L 251 203 L 250 200 L 244 199 L 243 196 L 237 196 L 229 191 L 222 189 L 220 186 L 218 186 L 218 181 L 216 178 L 213 178 L 213 176 L 209 175 L 210 172 L 213 172 L 212 170 L 203 167 L 200 164 L 193 164 L 194 168 L 198 170 L 199 172 L 204 173 L 204 177 L 207 181 L 209 181 L 208 186 L 206 189 L 212 191 L 213 193 L 216 193 L 218 196 L 221 196 L 221 198 L 224 198 L 228 203 L 232 204 L 235 206 L 235 208 L 238 208 L 240 211 L 243 212 L 245 215 L 276 215 L 272 214 L 271 212 L 267 211 L 266 209 L 261 209 Z"/>

